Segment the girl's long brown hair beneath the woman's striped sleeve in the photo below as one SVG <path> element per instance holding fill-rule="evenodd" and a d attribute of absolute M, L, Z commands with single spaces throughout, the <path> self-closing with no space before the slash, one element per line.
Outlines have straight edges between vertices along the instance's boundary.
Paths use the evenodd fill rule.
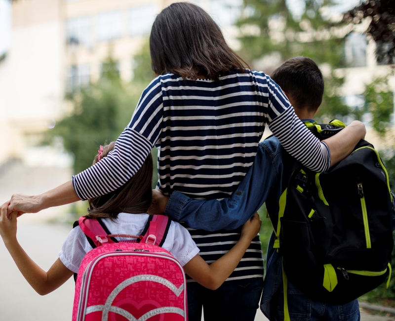
<path fill-rule="evenodd" d="M 103 146 L 103 152 L 96 155 L 93 164 L 107 157 L 114 150 L 115 142 Z M 124 185 L 113 192 L 88 200 L 89 218 L 109 217 L 116 219 L 118 213 L 146 213 L 152 202 L 152 170 L 151 154 L 148 155 L 141 168 Z"/>

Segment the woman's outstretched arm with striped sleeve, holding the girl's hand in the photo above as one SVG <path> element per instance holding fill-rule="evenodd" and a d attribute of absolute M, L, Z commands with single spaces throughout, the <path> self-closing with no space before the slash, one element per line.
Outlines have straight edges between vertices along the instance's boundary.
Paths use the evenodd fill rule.
<path fill-rule="evenodd" d="M 114 151 L 73 180 L 38 196 L 15 194 L 11 211 L 38 211 L 107 194 L 125 184 L 141 167 L 161 131 L 163 99 L 161 81 L 153 80 L 143 91 L 132 120 L 117 139 Z"/>

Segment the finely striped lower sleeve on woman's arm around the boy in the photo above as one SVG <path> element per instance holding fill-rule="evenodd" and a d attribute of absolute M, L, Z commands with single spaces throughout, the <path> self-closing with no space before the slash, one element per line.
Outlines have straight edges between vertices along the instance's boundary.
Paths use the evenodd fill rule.
<path fill-rule="evenodd" d="M 269 128 L 284 149 L 307 168 L 324 172 L 330 167 L 328 146 L 316 136 L 296 116 L 293 108 L 287 109 L 269 123 Z"/>

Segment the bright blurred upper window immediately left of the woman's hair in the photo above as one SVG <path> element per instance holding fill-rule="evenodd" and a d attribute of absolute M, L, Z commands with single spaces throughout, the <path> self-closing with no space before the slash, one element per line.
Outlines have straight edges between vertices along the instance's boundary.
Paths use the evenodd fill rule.
<path fill-rule="evenodd" d="M 136 6 L 130 8 L 129 30 L 130 36 L 145 36 L 150 34 L 152 24 L 157 15 L 157 7 L 154 4 Z"/>

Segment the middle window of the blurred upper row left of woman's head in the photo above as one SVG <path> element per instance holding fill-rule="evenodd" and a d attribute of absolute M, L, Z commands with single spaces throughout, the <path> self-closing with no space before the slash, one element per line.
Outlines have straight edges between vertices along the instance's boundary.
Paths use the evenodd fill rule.
<path fill-rule="evenodd" d="M 100 13 L 97 17 L 97 23 L 99 40 L 114 40 L 121 37 L 122 19 L 120 11 Z"/>

